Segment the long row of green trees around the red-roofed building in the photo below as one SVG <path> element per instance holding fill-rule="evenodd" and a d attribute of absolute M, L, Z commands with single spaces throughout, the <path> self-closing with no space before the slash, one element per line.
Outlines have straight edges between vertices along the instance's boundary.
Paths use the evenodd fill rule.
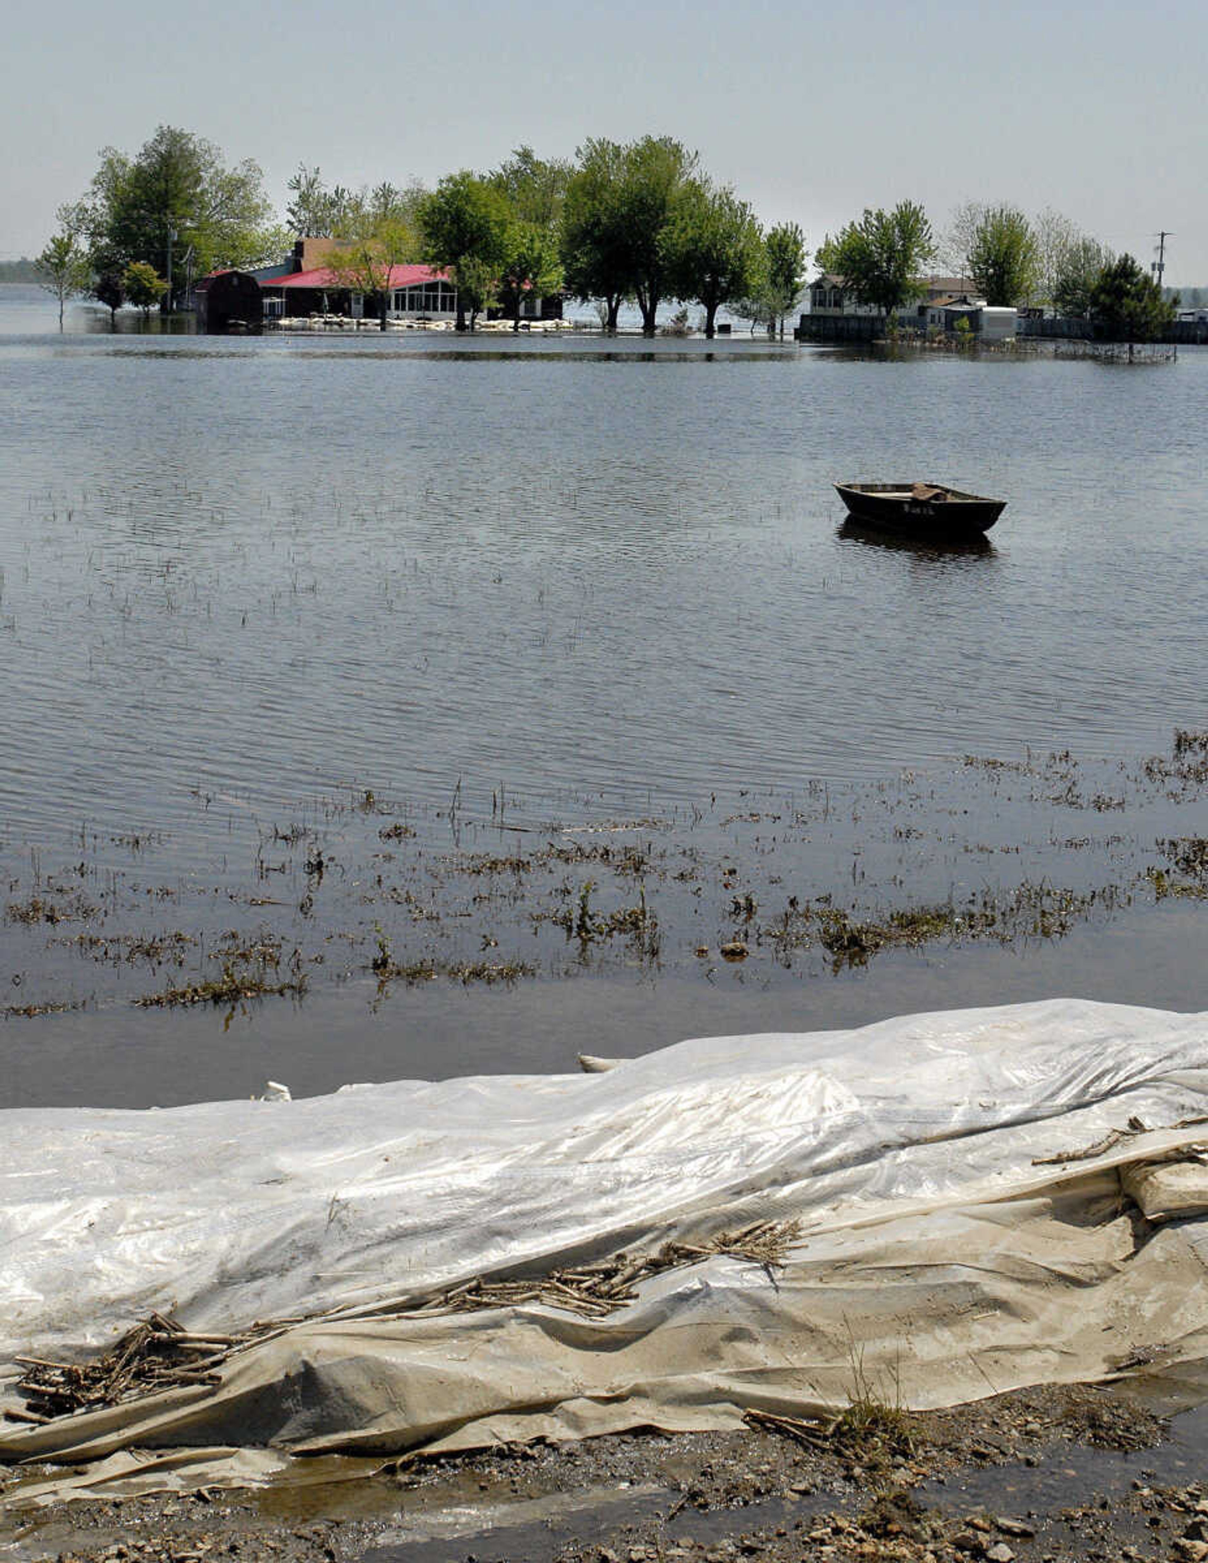
<path fill-rule="evenodd" d="M 805 284 L 800 228 L 764 233 L 669 136 L 588 141 L 574 161 L 520 147 L 500 167 L 450 173 L 433 191 L 328 188 L 302 166 L 289 194 L 286 224 L 275 225 L 255 163 L 228 167 L 211 142 L 161 125 L 134 156 L 102 152 L 86 194 L 59 209 L 39 267 L 61 303 L 91 289 L 111 308 L 142 300 L 131 267 L 148 267 L 169 309 L 192 277 L 277 261 L 294 236 L 331 238 L 336 284 L 370 295 L 383 325 L 391 267 L 425 261 L 450 274 L 459 327 L 488 306 L 519 325 L 525 299 L 569 292 L 603 300 L 609 330 L 627 300 L 647 331 L 663 300 L 695 302 L 709 336 L 727 305 L 783 333 Z"/>

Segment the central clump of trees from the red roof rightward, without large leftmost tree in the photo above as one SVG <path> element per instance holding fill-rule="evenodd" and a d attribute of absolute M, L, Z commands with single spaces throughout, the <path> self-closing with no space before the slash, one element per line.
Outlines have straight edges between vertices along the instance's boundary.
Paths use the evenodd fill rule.
<path fill-rule="evenodd" d="M 805 284 L 802 230 L 764 233 L 752 208 L 670 136 L 588 141 L 574 163 L 520 147 L 489 173 L 463 169 L 434 191 L 328 189 L 308 167 L 289 189 L 289 225 L 342 241 L 328 264 L 378 299 L 383 324 L 389 267 L 403 261 L 449 272 L 459 328 L 492 305 L 519 325 L 525 299 L 569 292 L 600 300 L 609 331 L 631 300 L 653 333 L 659 303 L 677 299 L 703 308 L 706 336 L 722 306 L 783 333 Z"/>

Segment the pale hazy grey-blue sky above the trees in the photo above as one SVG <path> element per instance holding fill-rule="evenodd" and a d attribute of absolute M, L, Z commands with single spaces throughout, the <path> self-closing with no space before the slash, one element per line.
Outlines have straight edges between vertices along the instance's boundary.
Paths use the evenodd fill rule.
<path fill-rule="evenodd" d="M 1208 284 L 1205 13 L 1191 0 L 3 0 L 0 258 L 33 255 L 100 147 L 159 123 L 255 158 L 284 205 L 331 183 L 484 170 L 520 142 L 572 155 L 645 131 L 695 147 L 761 219 L 813 249 L 911 197 L 1053 206 L 1166 281 Z"/>

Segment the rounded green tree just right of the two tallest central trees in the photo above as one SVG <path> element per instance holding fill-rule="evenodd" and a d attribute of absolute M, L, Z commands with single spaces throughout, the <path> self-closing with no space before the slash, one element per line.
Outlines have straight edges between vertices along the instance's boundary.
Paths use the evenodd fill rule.
<path fill-rule="evenodd" d="M 705 309 L 705 336 L 716 333 L 720 305 L 747 297 L 763 280 L 759 224 L 745 202 L 708 180 L 691 180 L 678 192 L 663 241 L 666 277 L 677 299 Z"/>

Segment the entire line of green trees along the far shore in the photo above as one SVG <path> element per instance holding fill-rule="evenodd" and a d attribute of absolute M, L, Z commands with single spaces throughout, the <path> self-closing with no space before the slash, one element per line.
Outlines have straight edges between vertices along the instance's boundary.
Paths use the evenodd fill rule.
<path fill-rule="evenodd" d="M 361 292 L 386 325 L 391 267 L 419 261 L 449 274 L 458 328 L 497 308 L 519 327 L 530 297 L 595 302 L 605 330 L 622 305 L 653 334 L 667 300 L 703 309 L 705 334 L 722 308 L 783 336 L 803 294 L 808 252 L 797 224 L 764 228 L 734 189 L 670 136 L 592 138 L 575 158 L 522 145 L 499 167 L 419 183 L 352 189 L 302 164 L 289 180 L 284 222 L 273 217 L 259 166 L 227 166 L 191 131 L 161 125 L 133 156 L 103 148 L 84 195 L 59 208 L 59 233 L 38 258 L 63 305 L 73 294 L 116 311 L 173 308 L 192 277 L 216 267 L 280 261 L 294 238 L 336 241 L 334 284 Z M 1153 334 L 1178 299 L 1138 263 L 1114 256 L 1060 213 L 1030 219 L 1010 205 L 967 202 L 936 238 L 916 202 L 866 209 L 817 249 L 824 272 L 892 317 L 922 292 L 936 264 L 967 277 L 991 305 L 1052 306 L 1127 334 Z"/>

